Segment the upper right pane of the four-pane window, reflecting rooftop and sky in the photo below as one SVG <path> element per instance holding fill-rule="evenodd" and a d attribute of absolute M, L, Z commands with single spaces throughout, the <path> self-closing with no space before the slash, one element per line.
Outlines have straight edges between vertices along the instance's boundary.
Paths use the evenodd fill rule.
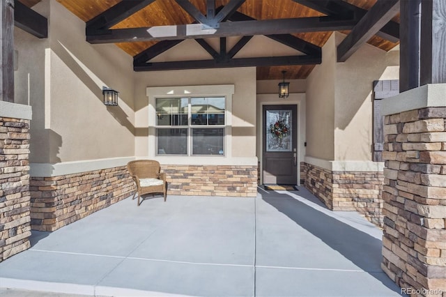
<path fill-rule="evenodd" d="M 224 125 L 224 97 L 192 98 L 192 125 Z"/>

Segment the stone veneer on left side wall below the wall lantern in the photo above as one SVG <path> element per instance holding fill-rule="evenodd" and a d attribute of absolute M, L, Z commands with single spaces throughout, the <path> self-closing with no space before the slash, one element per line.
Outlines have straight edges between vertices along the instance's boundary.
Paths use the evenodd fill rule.
<path fill-rule="evenodd" d="M 127 167 L 31 178 L 31 228 L 54 231 L 136 191 Z"/>

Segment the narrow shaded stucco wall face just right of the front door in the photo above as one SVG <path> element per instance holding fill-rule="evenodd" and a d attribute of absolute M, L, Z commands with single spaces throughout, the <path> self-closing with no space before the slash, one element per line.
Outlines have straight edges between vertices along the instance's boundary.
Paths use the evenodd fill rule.
<path fill-rule="evenodd" d="M 336 81 L 334 36 L 322 49 L 322 63 L 307 78 L 307 155 L 334 158 L 334 82 Z"/>

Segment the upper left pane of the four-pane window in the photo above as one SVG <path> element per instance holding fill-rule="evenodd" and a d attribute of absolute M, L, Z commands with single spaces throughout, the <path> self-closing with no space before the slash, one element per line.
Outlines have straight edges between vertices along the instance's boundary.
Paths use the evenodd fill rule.
<path fill-rule="evenodd" d="M 187 98 L 156 100 L 157 125 L 187 125 Z"/>

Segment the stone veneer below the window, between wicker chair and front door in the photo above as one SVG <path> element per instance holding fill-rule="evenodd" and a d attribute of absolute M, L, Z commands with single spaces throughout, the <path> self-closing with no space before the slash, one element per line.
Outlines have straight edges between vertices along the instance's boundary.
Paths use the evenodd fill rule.
<path fill-rule="evenodd" d="M 168 195 L 257 195 L 257 166 L 162 165 L 161 171 L 167 176 Z"/>

